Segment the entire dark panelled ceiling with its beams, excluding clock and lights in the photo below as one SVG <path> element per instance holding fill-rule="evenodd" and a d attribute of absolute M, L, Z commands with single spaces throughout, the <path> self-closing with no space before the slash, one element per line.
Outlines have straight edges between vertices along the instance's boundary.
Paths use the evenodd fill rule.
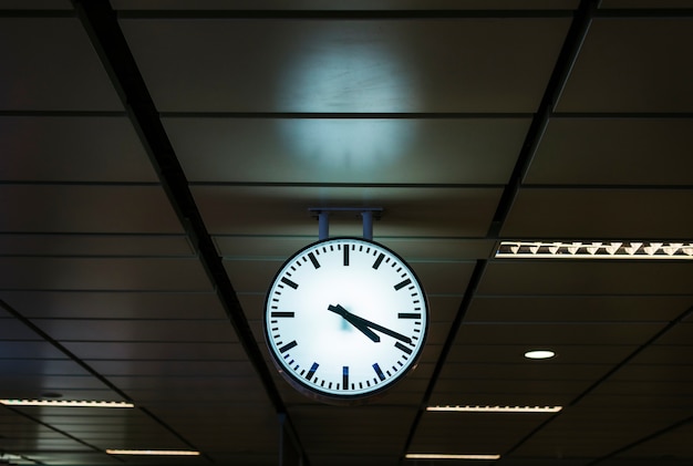
<path fill-rule="evenodd" d="M 495 257 L 691 241 L 691 56 L 685 0 L 1 0 L 0 397 L 135 407 L 0 405 L 0 458 L 692 465 L 691 260 Z M 363 406 L 262 335 L 328 207 L 382 208 L 428 294 L 418 366 Z"/>

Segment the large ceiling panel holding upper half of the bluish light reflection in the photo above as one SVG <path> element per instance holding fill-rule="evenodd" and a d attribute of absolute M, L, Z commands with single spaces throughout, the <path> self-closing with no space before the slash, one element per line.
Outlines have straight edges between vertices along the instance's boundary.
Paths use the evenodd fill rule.
<path fill-rule="evenodd" d="M 566 18 L 121 20 L 163 112 L 532 112 L 568 25 Z"/>

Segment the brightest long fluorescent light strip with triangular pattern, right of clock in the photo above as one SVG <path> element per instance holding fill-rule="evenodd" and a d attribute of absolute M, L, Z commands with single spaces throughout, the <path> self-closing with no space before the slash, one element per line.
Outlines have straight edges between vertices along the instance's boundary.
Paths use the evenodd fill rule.
<path fill-rule="evenodd" d="M 496 258 L 693 260 L 693 242 L 501 241 Z"/>

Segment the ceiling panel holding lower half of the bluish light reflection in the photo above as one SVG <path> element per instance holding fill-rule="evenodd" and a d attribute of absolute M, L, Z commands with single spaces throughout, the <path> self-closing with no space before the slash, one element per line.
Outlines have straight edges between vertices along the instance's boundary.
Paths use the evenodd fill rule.
<path fill-rule="evenodd" d="M 172 117 L 164 124 L 192 182 L 503 184 L 529 120 Z"/>

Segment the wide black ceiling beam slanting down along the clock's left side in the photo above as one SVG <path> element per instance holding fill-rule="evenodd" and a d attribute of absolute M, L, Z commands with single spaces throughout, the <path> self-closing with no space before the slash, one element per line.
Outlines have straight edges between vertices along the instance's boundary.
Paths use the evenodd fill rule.
<path fill-rule="evenodd" d="M 77 18 L 82 21 L 149 155 L 170 205 L 213 282 L 248 360 L 260 377 L 276 412 L 287 416 L 285 426 L 293 431 L 271 372 L 255 340 L 223 260 L 217 253 L 211 236 L 197 208 L 183 167 L 164 130 L 156 105 L 121 30 L 116 12 L 107 0 L 73 0 L 73 4 Z M 162 423 L 157 418 L 155 421 Z M 299 443 L 298 437 L 297 443 Z M 300 443 L 297 448 L 301 452 L 304 464 L 308 465 L 308 458 Z"/>

